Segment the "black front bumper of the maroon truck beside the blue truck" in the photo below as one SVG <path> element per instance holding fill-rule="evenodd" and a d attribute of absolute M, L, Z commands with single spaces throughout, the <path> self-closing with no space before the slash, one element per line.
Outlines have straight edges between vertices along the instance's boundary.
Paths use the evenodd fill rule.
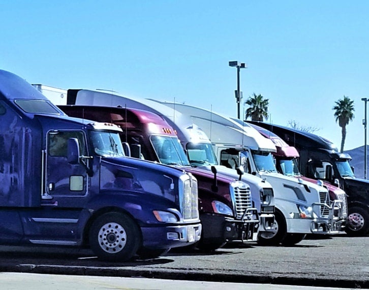
<path fill-rule="evenodd" d="M 252 212 L 256 219 L 235 219 L 215 213 L 200 213 L 202 223 L 202 242 L 250 242 L 256 241 L 259 232 L 259 215 L 256 208 L 247 209 L 244 216 Z"/>

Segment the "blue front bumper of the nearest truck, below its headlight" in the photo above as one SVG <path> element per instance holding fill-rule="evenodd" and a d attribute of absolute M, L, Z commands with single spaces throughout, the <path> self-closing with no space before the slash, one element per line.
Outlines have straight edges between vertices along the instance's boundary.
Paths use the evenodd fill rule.
<path fill-rule="evenodd" d="M 194 244 L 201 238 L 201 223 L 141 228 L 143 246 L 149 249 L 176 248 Z"/>

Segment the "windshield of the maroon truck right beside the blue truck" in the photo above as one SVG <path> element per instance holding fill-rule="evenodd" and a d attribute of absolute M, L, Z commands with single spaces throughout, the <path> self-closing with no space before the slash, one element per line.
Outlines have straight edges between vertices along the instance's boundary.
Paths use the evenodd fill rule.
<path fill-rule="evenodd" d="M 150 141 L 162 164 L 190 166 L 178 138 L 153 135 L 150 137 Z"/>

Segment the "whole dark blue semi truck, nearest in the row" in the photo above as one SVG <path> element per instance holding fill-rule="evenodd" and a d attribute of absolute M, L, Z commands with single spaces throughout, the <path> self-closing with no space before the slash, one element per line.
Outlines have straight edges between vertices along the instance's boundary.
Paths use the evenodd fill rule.
<path fill-rule="evenodd" d="M 0 71 L 1 244 L 90 247 L 106 261 L 199 241 L 197 180 L 125 156 L 113 124 L 70 118 Z"/>

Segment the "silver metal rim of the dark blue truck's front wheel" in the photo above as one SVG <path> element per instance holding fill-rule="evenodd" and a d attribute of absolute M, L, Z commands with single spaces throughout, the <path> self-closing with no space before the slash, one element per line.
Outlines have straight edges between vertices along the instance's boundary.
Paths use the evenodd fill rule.
<path fill-rule="evenodd" d="M 124 249 L 127 243 L 125 229 L 116 222 L 104 224 L 98 235 L 100 247 L 108 253 L 117 253 Z"/>

